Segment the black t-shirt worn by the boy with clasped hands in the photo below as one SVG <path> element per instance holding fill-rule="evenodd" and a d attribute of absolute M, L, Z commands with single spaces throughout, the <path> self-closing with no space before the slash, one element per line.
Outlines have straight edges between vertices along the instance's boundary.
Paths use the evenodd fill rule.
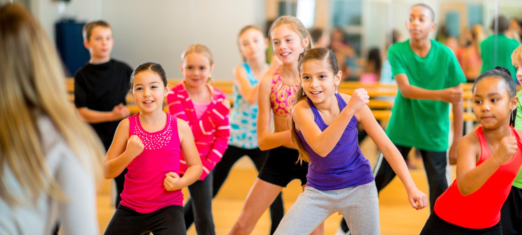
<path fill-rule="evenodd" d="M 126 105 L 129 80 L 133 70 L 128 65 L 111 59 L 107 63 L 86 64 L 74 75 L 74 104 L 77 108 L 110 112 L 114 106 Z M 110 145 L 119 120 L 91 123 L 104 145 Z"/>

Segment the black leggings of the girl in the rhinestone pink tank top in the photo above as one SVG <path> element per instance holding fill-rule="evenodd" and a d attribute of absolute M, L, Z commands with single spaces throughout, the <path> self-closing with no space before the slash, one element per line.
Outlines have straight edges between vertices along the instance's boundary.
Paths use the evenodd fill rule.
<path fill-rule="evenodd" d="M 126 206 L 118 205 L 104 235 L 155 235 L 187 234 L 183 219 L 183 206 L 172 205 L 144 214 Z"/>

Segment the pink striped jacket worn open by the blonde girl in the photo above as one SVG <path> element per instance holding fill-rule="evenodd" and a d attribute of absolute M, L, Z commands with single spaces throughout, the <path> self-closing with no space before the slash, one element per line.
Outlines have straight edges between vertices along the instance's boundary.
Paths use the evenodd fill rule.
<path fill-rule="evenodd" d="M 210 171 L 221 160 L 227 150 L 230 138 L 229 107 L 223 104 L 225 94 L 206 84 L 212 92 L 212 102 L 199 119 L 196 118 L 194 104 L 185 90 L 185 80 L 174 86 L 167 95 L 167 104 L 170 114 L 188 122 L 194 134 L 194 141 L 203 163 L 203 174 L 199 177 L 204 180 Z M 183 153 L 180 154 L 180 175 L 185 174 L 187 164 Z"/>

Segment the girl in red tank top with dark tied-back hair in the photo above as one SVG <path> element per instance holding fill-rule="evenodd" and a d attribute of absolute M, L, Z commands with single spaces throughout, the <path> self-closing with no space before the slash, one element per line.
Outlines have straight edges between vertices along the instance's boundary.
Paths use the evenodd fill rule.
<path fill-rule="evenodd" d="M 482 126 L 457 147 L 457 179 L 438 197 L 421 234 L 502 234 L 500 209 L 522 165 L 515 82 L 502 67 L 473 85 L 473 113 Z"/>

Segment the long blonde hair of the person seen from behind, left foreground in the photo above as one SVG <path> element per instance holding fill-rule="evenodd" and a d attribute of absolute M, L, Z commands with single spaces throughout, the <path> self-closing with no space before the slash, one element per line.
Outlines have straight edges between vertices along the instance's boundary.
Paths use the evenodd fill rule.
<path fill-rule="evenodd" d="M 29 11 L 18 4 L 0 5 L 0 178 L 11 169 L 33 203 L 42 191 L 66 200 L 46 163 L 37 113 L 48 116 L 79 162 L 97 177 L 101 142 L 68 102 L 65 76 L 53 43 Z M 0 198 L 20 204 L 0 180 Z"/>

